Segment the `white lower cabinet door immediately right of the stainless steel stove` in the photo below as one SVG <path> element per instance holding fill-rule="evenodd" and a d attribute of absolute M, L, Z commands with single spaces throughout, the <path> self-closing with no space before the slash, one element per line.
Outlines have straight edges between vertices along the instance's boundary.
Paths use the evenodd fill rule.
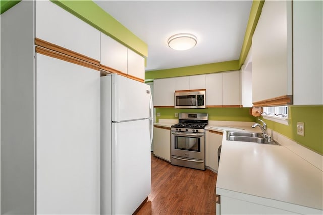
<path fill-rule="evenodd" d="M 222 144 L 223 133 L 217 131 L 209 131 L 208 139 L 208 166 L 211 170 L 218 172 L 218 148 Z"/>

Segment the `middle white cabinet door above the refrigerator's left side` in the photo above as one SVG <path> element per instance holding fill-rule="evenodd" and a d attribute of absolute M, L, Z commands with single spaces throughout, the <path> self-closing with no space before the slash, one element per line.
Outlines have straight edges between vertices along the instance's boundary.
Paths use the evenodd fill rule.
<path fill-rule="evenodd" d="M 127 47 L 101 33 L 101 64 L 127 74 Z"/>

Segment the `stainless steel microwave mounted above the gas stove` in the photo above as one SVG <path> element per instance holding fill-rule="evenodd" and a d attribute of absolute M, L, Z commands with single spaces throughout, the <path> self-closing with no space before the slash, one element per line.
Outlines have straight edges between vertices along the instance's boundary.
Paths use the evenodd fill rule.
<path fill-rule="evenodd" d="M 206 108 L 206 91 L 175 92 L 175 108 Z"/>

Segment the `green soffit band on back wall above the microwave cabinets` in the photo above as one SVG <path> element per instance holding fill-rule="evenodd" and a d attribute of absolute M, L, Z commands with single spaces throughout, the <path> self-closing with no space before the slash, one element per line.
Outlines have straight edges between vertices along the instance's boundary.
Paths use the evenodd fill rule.
<path fill-rule="evenodd" d="M 210 63 L 196 66 L 188 66 L 181 68 L 164 69 L 158 71 L 146 71 L 145 79 L 160 79 L 177 76 L 189 76 L 197 74 L 218 73 L 220 71 L 239 70 L 239 61 L 226 61 L 220 63 Z"/>

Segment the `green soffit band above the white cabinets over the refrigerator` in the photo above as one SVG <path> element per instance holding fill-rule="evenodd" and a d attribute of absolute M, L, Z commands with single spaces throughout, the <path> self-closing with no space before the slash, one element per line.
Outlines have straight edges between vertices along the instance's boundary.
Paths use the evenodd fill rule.
<path fill-rule="evenodd" d="M 138 54 L 148 56 L 148 45 L 93 1 L 56 0 L 52 2 Z"/>

